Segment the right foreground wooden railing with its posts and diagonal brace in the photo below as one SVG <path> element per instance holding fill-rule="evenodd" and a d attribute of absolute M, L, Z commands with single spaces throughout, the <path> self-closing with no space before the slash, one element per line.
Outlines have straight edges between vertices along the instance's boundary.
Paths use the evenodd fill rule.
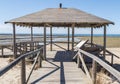
<path fill-rule="evenodd" d="M 84 71 L 86 73 L 86 75 L 92 79 L 93 84 L 96 84 L 96 66 L 97 63 L 99 65 L 101 65 L 104 69 L 106 69 L 110 74 L 112 74 L 119 82 L 120 82 L 120 72 L 117 71 L 116 69 L 114 69 L 113 67 L 111 67 L 109 64 L 107 64 L 104 60 L 100 59 L 98 56 L 95 56 L 91 53 L 88 53 L 82 49 L 77 49 L 77 63 L 78 63 L 78 67 L 80 67 L 80 61 L 82 63 L 82 66 L 84 68 Z M 92 64 L 92 77 L 88 71 L 88 68 L 85 64 L 84 58 L 83 56 L 87 56 L 89 58 L 91 58 L 93 60 L 93 64 Z"/>

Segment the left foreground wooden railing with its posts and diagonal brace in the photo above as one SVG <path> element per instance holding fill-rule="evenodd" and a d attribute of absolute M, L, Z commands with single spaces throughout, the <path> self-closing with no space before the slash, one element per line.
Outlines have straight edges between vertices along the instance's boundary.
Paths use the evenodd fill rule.
<path fill-rule="evenodd" d="M 28 75 L 28 78 L 26 79 L 26 64 L 25 64 L 25 58 L 29 57 L 31 55 L 37 55 L 35 57 L 35 61 L 33 63 L 32 69 L 30 71 L 30 74 Z M 36 65 L 36 63 L 38 62 L 38 66 L 41 67 L 42 66 L 42 54 L 43 54 L 43 47 L 35 50 L 35 51 L 31 51 L 28 52 L 26 54 L 20 55 L 18 58 L 16 58 L 13 62 L 11 62 L 8 66 L 6 66 L 5 68 L 0 70 L 0 76 L 2 76 L 3 74 L 5 74 L 7 71 L 9 71 L 10 69 L 12 69 L 16 64 L 18 64 L 21 61 L 21 84 L 27 84 L 29 81 L 29 78 L 33 72 L 33 69 Z"/>

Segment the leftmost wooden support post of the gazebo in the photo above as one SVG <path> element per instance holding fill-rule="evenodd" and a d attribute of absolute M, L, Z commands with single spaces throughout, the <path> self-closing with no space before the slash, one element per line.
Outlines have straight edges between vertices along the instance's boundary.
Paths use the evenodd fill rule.
<path fill-rule="evenodd" d="M 14 58 L 17 58 L 15 23 L 13 23 L 13 55 Z"/>

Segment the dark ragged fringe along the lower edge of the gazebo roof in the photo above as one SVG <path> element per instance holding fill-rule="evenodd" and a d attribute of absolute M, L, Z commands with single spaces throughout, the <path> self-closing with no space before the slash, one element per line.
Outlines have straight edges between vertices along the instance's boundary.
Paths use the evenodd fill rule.
<path fill-rule="evenodd" d="M 22 27 L 44 27 L 46 26 L 52 26 L 52 27 L 71 27 L 71 25 L 75 24 L 75 27 L 78 28 L 100 28 L 102 26 L 108 26 L 111 23 L 103 22 L 5 22 L 5 23 L 12 23 L 17 26 Z"/>

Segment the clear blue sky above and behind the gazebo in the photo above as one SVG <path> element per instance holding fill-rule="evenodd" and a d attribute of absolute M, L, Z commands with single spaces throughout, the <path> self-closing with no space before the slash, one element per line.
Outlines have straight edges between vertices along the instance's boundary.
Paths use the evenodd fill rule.
<path fill-rule="evenodd" d="M 113 21 L 115 25 L 107 27 L 107 34 L 120 34 L 120 0 L 0 0 L 0 33 L 12 33 L 12 25 L 5 21 L 21 17 L 46 8 L 77 8 L 90 14 Z M 43 28 L 34 28 L 41 34 Z M 67 33 L 67 28 L 53 30 L 54 33 Z M 16 33 L 30 33 L 29 28 L 16 27 Z M 49 29 L 47 29 L 49 33 Z M 75 29 L 76 34 L 90 34 L 90 29 Z M 94 29 L 94 34 L 103 34 L 103 29 Z"/>

